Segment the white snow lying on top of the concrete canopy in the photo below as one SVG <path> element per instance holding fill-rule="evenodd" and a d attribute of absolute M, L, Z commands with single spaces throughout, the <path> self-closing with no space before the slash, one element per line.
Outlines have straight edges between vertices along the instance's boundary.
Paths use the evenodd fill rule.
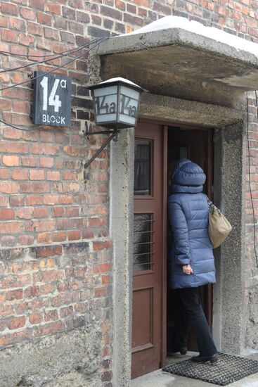
<path fill-rule="evenodd" d="M 195 20 L 188 20 L 186 18 L 182 18 L 181 16 L 165 16 L 165 18 L 155 20 L 155 22 L 150 23 L 145 27 L 124 35 L 143 34 L 146 32 L 168 30 L 172 28 L 180 28 L 181 30 L 193 32 L 194 34 L 202 35 L 203 37 L 214 39 L 217 42 L 233 46 L 235 49 L 249 51 L 250 53 L 258 56 L 257 43 L 250 42 L 249 40 L 229 34 L 228 32 L 219 30 L 215 27 L 206 27 Z"/>

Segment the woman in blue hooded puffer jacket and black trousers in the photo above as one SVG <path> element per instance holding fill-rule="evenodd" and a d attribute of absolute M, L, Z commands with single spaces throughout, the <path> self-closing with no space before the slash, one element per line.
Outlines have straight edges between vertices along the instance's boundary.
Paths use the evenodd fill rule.
<path fill-rule="evenodd" d="M 217 348 L 198 289 L 198 286 L 216 281 L 208 234 L 209 206 L 207 196 L 202 193 L 205 179 L 202 168 L 188 159 L 179 160 L 172 172 L 172 195 L 168 201 L 173 238 L 169 253 L 169 286 L 179 289 L 181 303 L 198 341 L 200 355 L 192 360 L 216 362 Z"/>

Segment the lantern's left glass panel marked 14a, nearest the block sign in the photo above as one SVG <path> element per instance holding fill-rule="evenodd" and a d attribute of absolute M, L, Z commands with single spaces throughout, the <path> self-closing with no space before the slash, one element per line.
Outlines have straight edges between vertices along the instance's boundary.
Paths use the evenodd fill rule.
<path fill-rule="evenodd" d="M 117 121 L 117 86 L 94 90 L 96 123 Z"/>

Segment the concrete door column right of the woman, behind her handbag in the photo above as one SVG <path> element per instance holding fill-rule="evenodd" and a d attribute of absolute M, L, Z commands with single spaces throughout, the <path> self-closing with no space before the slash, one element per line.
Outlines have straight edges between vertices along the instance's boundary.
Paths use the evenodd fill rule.
<path fill-rule="evenodd" d="M 217 285 L 214 286 L 214 338 L 222 352 L 244 349 L 245 279 L 245 135 L 243 123 L 214 136 L 214 203 L 233 230 L 215 251 Z"/>

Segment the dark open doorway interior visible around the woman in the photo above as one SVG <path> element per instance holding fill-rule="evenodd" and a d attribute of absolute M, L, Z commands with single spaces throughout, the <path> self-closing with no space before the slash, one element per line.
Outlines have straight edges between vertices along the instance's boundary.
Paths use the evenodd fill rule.
<path fill-rule="evenodd" d="M 167 171 L 180 158 L 189 158 L 202 167 L 206 174 L 204 192 L 212 199 L 213 182 L 213 130 L 195 127 L 168 127 L 167 130 Z M 169 176 L 168 176 L 169 180 Z M 169 184 L 167 194 L 169 195 Z M 169 251 L 170 227 L 167 225 L 167 253 Z M 212 328 L 212 285 L 201 288 L 202 307 Z M 179 313 L 179 302 L 176 291 L 167 288 L 167 350 L 171 349 L 176 315 Z M 188 350 L 198 350 L 193 331 L 188 334 Z"/>

